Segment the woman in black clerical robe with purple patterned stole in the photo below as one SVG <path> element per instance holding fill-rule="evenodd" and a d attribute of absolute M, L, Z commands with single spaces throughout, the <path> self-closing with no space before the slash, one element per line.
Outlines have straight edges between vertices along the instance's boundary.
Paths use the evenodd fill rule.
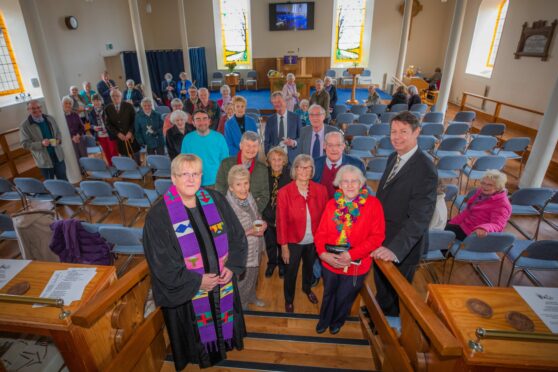
<path fill-rule="evenodd" d="M 188 363 L 206 368 L 244 345 L 237 278 L 245 270 L 247 240 L 226 199 L 200 189 L 200 158 L 178 155 L 171 173 L 173 185 L 146 217 L 145 256 L 176 369 Z"/>

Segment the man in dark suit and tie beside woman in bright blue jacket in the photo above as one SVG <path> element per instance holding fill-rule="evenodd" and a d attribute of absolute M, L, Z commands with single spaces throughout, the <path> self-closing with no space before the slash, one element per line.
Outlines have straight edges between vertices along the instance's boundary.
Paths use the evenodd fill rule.
<path fill-rule="evenodd" d="M 267 154 L 273 147 L 281 145 L 287 150 L 289 163 L 292 163 L 297 155 L 296 145 L 302 122 L 297 114 L 287 111 L 287 102 L 285 102 L 283 93 L 273 92 L 271 103 L 277 113 L 271 115 L 265 124 L 265 153 Z"/>

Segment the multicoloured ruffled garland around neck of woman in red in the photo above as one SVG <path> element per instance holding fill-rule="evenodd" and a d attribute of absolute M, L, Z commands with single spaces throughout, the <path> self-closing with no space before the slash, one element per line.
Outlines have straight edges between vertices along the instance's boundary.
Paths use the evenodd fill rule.
<path fill-rule="evenodd" d="M 351 229 L 360 216 L 360 206 L 366 203 L 368 190 L 366 187 L 363 187 L 358 196 L 352 201 L 346 201 L 341 190 L 337 190 L 333 198 L 337 206 L 333 213 L 333 222 L 335 222 L 335 228 L 339 232 L 337 245 L 349 245 Z"/>

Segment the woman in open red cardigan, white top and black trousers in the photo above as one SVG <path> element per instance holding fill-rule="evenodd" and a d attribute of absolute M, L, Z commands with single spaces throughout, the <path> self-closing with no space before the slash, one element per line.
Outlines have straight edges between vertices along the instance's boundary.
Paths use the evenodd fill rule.
<path fill-rule="evenodd" d="M 306 154 L 293 161 L 291 178 L 277 193 L 277 243 L 286 265 L 284 278 L 285 311 L 294 311 L 294 290 L 300 261 L 302 260 L 302 290 L 313 304 L 318 298 L 311 290 L 312 265 L 316 257 L 314 234 L 327 203 L 327 190 L 311 181 L 314 160 Z"/>

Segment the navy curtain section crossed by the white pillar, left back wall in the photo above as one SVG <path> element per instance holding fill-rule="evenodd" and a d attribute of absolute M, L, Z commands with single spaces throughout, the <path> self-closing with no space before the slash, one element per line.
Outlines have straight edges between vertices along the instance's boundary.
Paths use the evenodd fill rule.
<path fill-rule="evenodd" d="M 136 52 L 122 52 L 121 55 L 126 79 L 133 79 L 136 83 L 141 82 Z M 148 50 L 145 56 L 151 90 L 160 97 L 164 75 L 170 72 L 176 81 L 179 79 L 178 75 L 184 71 L 182 50 Z"/>

